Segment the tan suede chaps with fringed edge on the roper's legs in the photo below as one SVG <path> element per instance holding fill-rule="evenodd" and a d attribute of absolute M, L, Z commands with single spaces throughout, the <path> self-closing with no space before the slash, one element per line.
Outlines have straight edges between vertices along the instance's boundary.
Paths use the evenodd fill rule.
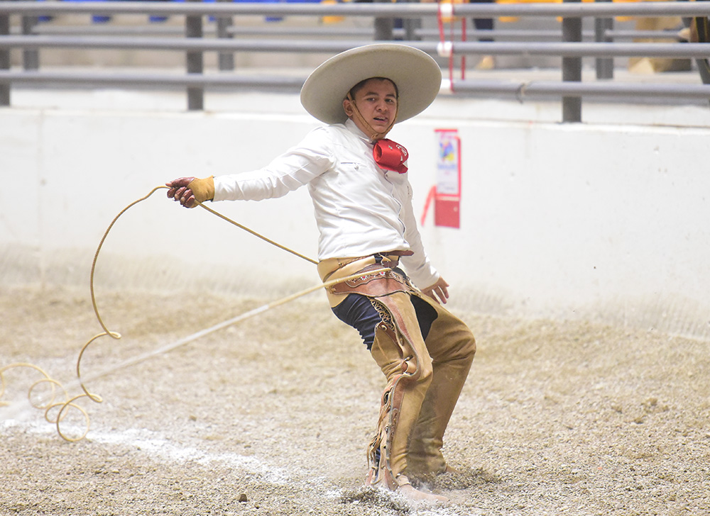
<path fill-rule="evenodd" d="M 332 305 L 349 293 L 370 298 L 381 315 L 371 354 L 386 377 L 376 434 L 368 447 L 366 483 L 391 490 L 409 483 L 409 476 L 442 473 L 444 432 L 464 386 L 476 352 L 471 330 L 439 303 L 425 296 L 399 271 L 368 274 L 396 267 L 398 256 L 374 257 L 319 266 L 324 279 L 361 271 L 358 279 L 329 289 Z M 327 269 L 327 273 L 325 272 Z M 436 310 L 437 317 L 422 338 L 410 296 Z"/>

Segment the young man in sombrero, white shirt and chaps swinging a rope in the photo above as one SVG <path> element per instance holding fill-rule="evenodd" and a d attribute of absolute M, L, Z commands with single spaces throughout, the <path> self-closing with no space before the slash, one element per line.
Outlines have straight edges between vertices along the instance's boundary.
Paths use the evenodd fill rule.
<path fill-rule="evenodd" d="M 446 499 L 415 489 L 409 478 L 451 471 L 444 431 L 476 344 L 442 306 L 449 285 L 417 230 L 407 150 L 385 136 L 432 103 L 441 77 L 435 60 L 406 45 L 342 52 L 301 90 L 306 111 L 327 125 L 263 169 L 167 183 L 168 197 L 187 208 L 195 199 L 261 200 L 307 186 L 320 230 L 321 279 L 361 272 L 329 289 L 332 310 L 359 331 L 387 380 L 366 483 L 416 500 Z"/>

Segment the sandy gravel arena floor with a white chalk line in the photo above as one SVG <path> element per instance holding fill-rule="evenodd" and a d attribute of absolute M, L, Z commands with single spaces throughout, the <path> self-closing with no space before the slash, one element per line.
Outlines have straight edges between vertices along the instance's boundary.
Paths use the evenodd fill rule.
<path fill-rule="evenodd" d="M 86 290 L 1 288 L 0 368 L 79 394 L 101 331 Z M 459 313 L 479 344 L 444 447 L 460 472 L 420 483 L 447 505 L 413 505 L 362 487 L 383 378 L 323 298 L 116 370 L 271 300 L 99 293 L 124 337 L 82 360 L 103 398 L 77 401 L 85 439 L 23 401 L 37 371 L 4 373 L 0 514 L 710 514 L 710 343 Z M 82 425 L 70 411 L 62 429 Z"/>

